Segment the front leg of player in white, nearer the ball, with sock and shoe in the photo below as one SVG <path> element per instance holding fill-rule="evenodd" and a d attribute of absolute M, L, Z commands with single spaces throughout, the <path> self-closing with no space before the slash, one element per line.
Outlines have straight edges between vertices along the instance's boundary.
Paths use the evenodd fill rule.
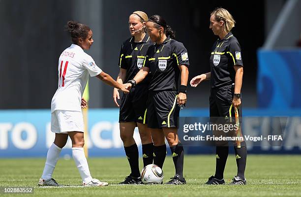
<path fill-rule="evenodd" d="M 107 182 L 101 182 L 98 179 L 93 179 L 90 175 L 89 165 L 84 153 L 84 133 L 79 131 L 68 132 L 72 141 L 72 156 L 74 162 L 81 174 L 84 186 L 107 186 Z"/>

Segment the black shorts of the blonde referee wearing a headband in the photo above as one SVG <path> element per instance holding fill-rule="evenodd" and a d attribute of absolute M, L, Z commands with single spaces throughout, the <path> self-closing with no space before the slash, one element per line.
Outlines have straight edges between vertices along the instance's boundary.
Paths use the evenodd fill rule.
<path fill-rule="evenodd" d="M 121 98 L 119 122 L 136 122 L 146 124 L 148 84 L 138 84 L 130 90 L 129 94 L 123 94 Z"/>

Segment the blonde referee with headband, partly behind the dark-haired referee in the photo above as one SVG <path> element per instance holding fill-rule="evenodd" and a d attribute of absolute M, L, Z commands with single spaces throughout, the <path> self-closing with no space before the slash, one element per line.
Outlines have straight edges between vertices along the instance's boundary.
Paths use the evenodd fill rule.
<path fill-rule="evenodd" d="M 129 31 L 131 37 L 125 40 L 120 49 L 120 72 L 117 78 L 119 83 L 127 82 L 134 78 L 143 66 L 151 39 L 146 34 L 146 22 L 148 15 L 142 11 L 135 11 L 129 16 Z M 130 164 L 131 173 L 120 184 L 141 184 L 139 170 L 139 152 L 133 138 L 135 127 L 138 126 L 142 142 L 143 165 L 152 164 L 153 143 L 151 132 L 146 123 L 148 86 L 150 77 L 146 77 L 139 85 L 130 90 L 129 94 L 123 94 L 120 104 L 119 122 L 120 137 L 123 141 L 124 151 Z M 118 89 L 114 89 L 113 99 L 119 106 L 120 99 Z"/>

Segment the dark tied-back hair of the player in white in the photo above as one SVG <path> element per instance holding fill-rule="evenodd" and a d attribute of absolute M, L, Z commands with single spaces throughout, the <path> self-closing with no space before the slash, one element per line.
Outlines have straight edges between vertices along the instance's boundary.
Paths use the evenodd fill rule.
<path fill-rule="evenodd" d="M 78 44 L 79 38 L 87 38 L 88 33 L 91 29 L 85 25 L 75 21 L 67 22 L 67 31 L 70 33 L 71 40 L 74 44 Z"/>

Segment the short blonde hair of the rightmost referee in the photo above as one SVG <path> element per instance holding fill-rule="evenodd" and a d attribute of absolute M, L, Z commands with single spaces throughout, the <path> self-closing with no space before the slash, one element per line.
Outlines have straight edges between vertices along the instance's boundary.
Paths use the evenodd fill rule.
<path fill-rule="evenodd" d="M 224 8 L 216 8 L 211 12 L 211 16 L 214 15 L 217 22 L 223 21 L 225 24 L 225 32 L 229 33 L 235 26 L 235 20 L 233 16 Z"/>

